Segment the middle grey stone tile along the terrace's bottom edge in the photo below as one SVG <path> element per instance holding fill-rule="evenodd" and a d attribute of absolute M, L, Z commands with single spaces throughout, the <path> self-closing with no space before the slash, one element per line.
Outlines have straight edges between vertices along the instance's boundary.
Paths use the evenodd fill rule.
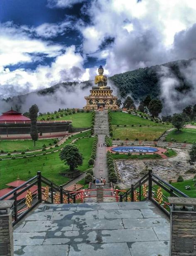
<path fill-rule="evenodd" d="M 69 256 L 131 256 L 126 243 L 70 245 Z"/>

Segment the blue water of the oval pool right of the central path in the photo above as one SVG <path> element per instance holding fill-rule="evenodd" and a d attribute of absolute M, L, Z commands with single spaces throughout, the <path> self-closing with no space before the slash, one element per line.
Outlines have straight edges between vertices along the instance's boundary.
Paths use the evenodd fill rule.
<path fill-rule="evenodd" d="M 157 152 L 157 148 L 152 147 L 141 147 L 141 146 L 122 146 L 122 147 L 114 147 L 112 151 L 119 153 L 154 153 Z"/>

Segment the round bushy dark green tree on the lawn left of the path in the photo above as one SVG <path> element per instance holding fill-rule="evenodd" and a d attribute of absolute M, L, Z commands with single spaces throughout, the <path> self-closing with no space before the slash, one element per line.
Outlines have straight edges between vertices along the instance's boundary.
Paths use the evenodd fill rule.
<path fill-rule="evenodd" d="M 83 158 L 82 154 L 79 152 L 79 148 L 75 145 L 66 145 L 59 154 L 60 160 L 65 162 L 65 165 L 70 166 L 70 171 L 74 171 L 75 167 L 82 165 Z"/>

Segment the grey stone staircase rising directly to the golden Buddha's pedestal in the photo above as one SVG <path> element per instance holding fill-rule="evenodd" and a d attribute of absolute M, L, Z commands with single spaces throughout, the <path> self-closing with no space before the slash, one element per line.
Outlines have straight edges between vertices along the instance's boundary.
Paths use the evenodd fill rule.
<path fill-rule="evenodd" d="M 109 124 L 107 111 L 96 111 L 94 121 L 94 134 L 109 135 Z"/>

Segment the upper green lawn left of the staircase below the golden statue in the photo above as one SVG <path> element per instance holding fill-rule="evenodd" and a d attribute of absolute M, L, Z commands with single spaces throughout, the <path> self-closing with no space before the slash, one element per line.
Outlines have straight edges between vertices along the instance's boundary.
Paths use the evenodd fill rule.
<path fill-rule="evenodd" d="M 76 128 L 85 128 L 85 127 L 90 127 L 91 126 L 91 115 L 92 113 L 86 113 L 86 112 L 83 112 L 83 113 L 75 113 L 75 114 L 72 114 L 72 115 L 68 115 L 68 116 L 65 116 L 65 113 L 63 113 L 64 116 L 62 117 L 59 117 L 59 118 L 56 118 L 55 114 L 50 114 L 49 116 L 54 116 L 55 118 L 53 120 L 50 120 L 50 121 L 61 121 L 61 120 L 71 120 L 72 121 L 72 124 L 73 124 L 73 127 L 76 127 Z M 45 120 L 47 119 L 48 115 L 43 115 L 43 116 L 39 116 L 38 120 L 41 120 L 42 118 L 45 118 Z"/>

